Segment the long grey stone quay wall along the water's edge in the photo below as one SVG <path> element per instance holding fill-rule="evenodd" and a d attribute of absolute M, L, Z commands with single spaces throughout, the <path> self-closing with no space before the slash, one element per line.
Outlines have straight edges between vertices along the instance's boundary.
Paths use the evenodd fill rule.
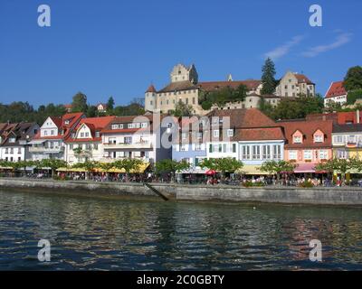
<path fill-rule="evenodd" d="M 171 200 L 226 202 L 271 202 L 314 205 L 362 205 L 362 188 L 241 188 L 236 186 L 203 186 L 151 184 Z M 82 193 L 93 196 L 149 197 L 161 200 L 142 183 L 57 182 L 0 179 L 0 189 L 26 189 L 37 192 Z"/>

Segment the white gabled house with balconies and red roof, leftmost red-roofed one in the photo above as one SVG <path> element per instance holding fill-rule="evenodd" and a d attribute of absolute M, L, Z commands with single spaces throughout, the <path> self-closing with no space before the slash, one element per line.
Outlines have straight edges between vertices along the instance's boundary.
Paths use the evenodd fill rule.
<path fill-rule="evenodd" d="M 43 159 L 64 160 L 64 140 L 85 116 L 82 113 L 65 114 L 62 117 L 48 117 L 40 131 L 33 137 L 29 148 L 33 161 Z"/>

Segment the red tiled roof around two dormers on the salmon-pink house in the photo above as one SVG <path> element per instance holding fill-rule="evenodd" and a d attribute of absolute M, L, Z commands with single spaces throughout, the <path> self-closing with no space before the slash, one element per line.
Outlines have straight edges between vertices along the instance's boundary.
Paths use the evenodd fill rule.
<path fill-rule="evenodd" d="M 278 123 L 284 127 L 284 135 L 287 139 L 286 148 L 304 148 L 304 147 L 331 147 L 331 134 L 333 129 L 333 121 L 291 121 Z M 325 135 L 324 143 L 314 143 L 313 135 L 320 130 Z M 293 134 L 300 131 L 303 134 L 302 144 L 293 144 Z"/>

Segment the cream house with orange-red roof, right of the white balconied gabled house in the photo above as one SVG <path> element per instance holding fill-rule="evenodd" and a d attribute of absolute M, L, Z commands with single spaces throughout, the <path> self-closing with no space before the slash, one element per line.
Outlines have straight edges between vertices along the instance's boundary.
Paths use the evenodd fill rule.
<path fill-rule="evenodd" d="M 101 131 L 110 124 L 115 117 L 86 117 L 67 137 L 64 157 L 69 164 L 84 163 L 87 161 L 100 162 L 104 155 L 104 145 Z"/>

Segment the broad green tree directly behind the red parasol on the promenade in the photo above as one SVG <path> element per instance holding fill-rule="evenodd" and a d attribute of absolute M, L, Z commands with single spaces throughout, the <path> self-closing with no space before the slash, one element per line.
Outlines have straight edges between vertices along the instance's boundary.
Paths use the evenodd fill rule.
<path fill-rule="evenodd" d="M 207 168 L 221 172 L 224 178 L 226 172 L 237 172 L 243 168 L 243 163 L 232 157 L 204 159 L 200 163 L 201 168 Z"/>

